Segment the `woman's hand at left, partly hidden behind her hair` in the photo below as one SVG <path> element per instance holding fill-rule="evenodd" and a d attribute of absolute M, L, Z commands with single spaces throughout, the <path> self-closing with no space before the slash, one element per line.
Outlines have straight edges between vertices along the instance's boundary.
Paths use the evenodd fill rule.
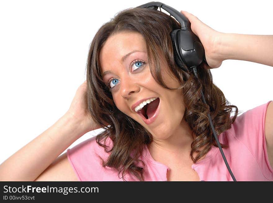
<path fill-rule="evenodd" d="M 66 112 L 69 117 L 72 117 L 72 119 L 78 123 L 80 129 L 85 133 L 101 128 L 101 126 L 93 121 L 88 111 L 86 90 L 87 81 L 85 80 L 83 84 L 78 87 L 69 110 Z"/>

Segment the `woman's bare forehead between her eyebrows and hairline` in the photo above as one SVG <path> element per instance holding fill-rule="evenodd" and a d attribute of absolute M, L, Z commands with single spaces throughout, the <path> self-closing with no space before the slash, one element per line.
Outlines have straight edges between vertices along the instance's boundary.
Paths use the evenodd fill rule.
<path fill-rule="evenodd" d="M 147 52 L 145 39 L 140 33 L 123 31 L 110 36 L 99 53 L 101 72 L 113 62 L 122 64 L 122 57 L 133 50 Z"/>

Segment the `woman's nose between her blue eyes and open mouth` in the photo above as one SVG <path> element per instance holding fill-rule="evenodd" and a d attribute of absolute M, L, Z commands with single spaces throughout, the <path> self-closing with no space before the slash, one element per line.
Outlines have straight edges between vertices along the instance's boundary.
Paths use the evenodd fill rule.
<path fill-rule="evenodd" d="M 121 95 L 124 99 L 128 99 L 130 95 L 132 95 L 135 92 L 140 91 L 140 87 L 137 84 L 137 81 L 130 77 L 123 77 L 121 84 Z"/>

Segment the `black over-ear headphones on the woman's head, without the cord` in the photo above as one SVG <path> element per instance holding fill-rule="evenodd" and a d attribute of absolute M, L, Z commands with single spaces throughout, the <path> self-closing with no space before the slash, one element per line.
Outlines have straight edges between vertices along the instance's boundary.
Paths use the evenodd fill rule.
<path fill-rule="evenodd" d="M 194 66 L 197 67 L 205 60 L 204 47 L 199 38 L 190 29 L 190 21 L 185 15 L 161 2 L 149 2 L 138 7 L 154 10 L 157 10 L 158 7 L 163 8 L 181 24 L 181 29 L 172 30 L 170 36 L 175 62 L 182 70 L 187 71 L 183 63 L 191 69 Z"/>

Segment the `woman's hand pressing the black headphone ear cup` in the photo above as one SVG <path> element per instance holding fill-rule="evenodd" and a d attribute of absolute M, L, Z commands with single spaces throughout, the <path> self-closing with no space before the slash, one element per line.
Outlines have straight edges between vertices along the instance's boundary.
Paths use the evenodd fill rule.
<path fill-rule="evenodd" d="M 191 30 L 204 46 L 206 61 L 209 65 L 207 68 L 220 67 L 224 59 L 217 54 L 217 46 L 224 33 L 217 32 L 187 11 L 181 11 L 181 13 L 190 21 Z"/>

